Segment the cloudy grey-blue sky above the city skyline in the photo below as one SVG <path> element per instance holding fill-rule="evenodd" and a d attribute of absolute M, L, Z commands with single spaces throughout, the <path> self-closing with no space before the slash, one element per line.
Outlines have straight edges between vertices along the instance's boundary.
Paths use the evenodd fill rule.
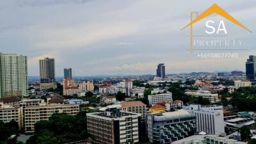
<path fill-rule="evenodd" d="M 214 3 L 252 31 L 228 25 L 246 41 L 238 58 L 197 58 L 189 51 L 189 29 L 180 29 L 190 12 Z M 1 1 L 0 52 L 28 56 L 29 76 L 39 76 L 38 61 L 46 57 L 55 59 L 56 76 L 65 67 L 73 76 L 155 74 L 158 63 L 167 74 L 244 71 L 248 55 L 256 54 L 255 13 L 255 0 Z"/>

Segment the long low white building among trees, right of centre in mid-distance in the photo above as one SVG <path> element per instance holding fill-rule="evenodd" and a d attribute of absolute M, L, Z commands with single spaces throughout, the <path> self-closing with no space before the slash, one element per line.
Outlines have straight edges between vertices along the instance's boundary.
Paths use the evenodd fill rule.
<path fill-rule="evenodd" d="M 211 93 L 208 90 L 198 90 L 185 92 L 186 95 L 192 95 L 194 97 L 203 97 L 205 99 L 209 99 L 211 103 L 218 102 L 220 99 L 218 98 L 218 93 Z"/>

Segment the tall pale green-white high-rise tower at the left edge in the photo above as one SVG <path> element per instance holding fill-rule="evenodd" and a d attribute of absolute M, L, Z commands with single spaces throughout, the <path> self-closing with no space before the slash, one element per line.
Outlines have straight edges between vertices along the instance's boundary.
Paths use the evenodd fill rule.
<path fill-rule="evenodd" d="M 28 97 L 27 57 L 0 52 L 0 98 Z"/>

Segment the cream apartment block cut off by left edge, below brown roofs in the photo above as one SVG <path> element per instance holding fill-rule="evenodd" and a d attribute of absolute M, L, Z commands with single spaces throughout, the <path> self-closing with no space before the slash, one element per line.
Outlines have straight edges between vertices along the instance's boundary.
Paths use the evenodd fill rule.
<path fill-rule="evenodd" d="M 11 106 L 0 102 L 0 121 L 6 123 L 15 120 L 22 127 L 22 107 Z"/>

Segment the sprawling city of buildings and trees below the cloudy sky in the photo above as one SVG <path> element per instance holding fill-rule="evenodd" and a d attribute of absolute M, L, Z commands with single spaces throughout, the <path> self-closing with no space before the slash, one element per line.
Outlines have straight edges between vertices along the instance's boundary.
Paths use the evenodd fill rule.
<path fill-rule="evenodd" d="M 166 74 L 159 63 L 156 75 L 90 81 L 74 80 L 72 68 L 56 81 L 54 58 L 44 58 L 39 81 L 29 82 L 26 56 L 0 53 L 0 60 L 8 143 L 242 144 L 256 137 L 256 56 L 244 61 L 246 72 Z"/>

